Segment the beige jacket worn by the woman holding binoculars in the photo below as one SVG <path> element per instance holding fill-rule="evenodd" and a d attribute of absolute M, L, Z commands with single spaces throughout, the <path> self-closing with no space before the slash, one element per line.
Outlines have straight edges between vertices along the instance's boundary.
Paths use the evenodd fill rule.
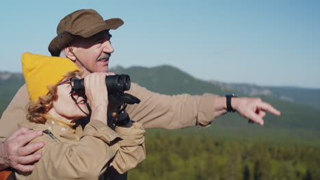
<path fill-rule="evenodd" d="M 55 119 L 45 124 L 24 121 L 21 126 L 31 130 L 50 130 L 54 138 L 44 134 L 30 143 L 44 142 L 39 152 L 43 157 L 31 175 L 21 179 L 98 179 L 108 166 L 120 173 L 134 168 L 146 157 L 144 129 L 139 123 L 133 127 L 116 127 L 111 130 L 101 121 L 93 120 L 76 128 L 59 125 Z"/>

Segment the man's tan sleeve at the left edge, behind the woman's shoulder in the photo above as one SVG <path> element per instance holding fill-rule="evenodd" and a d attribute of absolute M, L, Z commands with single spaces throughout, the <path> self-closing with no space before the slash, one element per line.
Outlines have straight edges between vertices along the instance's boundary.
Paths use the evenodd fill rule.
<path fill-rule="evenodd" d="M 3 142 L 13 132 L 18 130 L 18 123 L 27 119 L 26 107 L 29 103 L 27 87 L 23 85 L 9 106 L 3 112 L 0 119 L 0 142 Z"/>

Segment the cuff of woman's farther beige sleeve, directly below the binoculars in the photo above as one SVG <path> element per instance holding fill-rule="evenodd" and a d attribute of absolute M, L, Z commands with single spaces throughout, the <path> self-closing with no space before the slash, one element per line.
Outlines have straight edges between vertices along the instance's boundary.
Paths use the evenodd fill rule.
<path fill-rule="evenodd" d="M 146 131 L 141 123 L 134 122 L 132 127 L 116 126 L 115 130 L 122 138 L 122 140 L 118 142 L 120 146 L 133 147 L 142 145 L 144 142 L 144 133 Z"/>

